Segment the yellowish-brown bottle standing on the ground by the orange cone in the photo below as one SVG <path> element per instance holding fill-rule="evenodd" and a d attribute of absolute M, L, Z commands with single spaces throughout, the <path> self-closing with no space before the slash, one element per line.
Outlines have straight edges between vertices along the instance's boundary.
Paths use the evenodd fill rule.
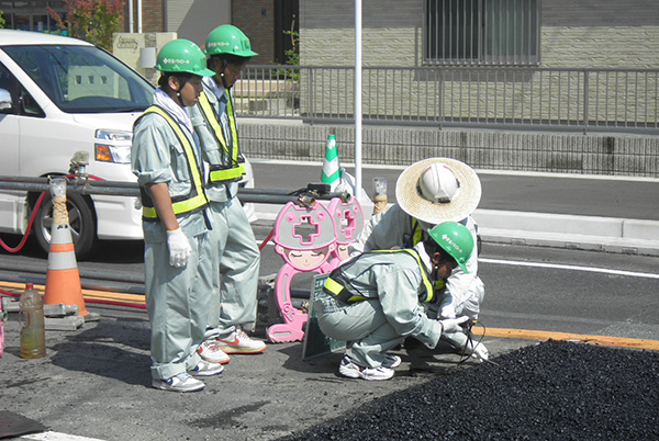
<path fill-rule="evenodd" d="M 34 284 L 25 284 L 19 299 L 21 321 L 21 357 L 41 359 L 46 355 L 46 331 L 44 327 L 44 301 Z"/>

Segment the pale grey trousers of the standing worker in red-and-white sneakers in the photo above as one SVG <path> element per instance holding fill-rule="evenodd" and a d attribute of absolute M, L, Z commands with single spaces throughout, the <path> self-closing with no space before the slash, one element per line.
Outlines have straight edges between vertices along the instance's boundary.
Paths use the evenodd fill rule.
<path fill-rule="evenodd" d="M 205 339 L 226 338 L 238 325 L 256 321 L 260 251 L 239 201 L 211 202 L 212 241 L 219 264 L 214 290 L 220 307 L 209 323 Z"/>

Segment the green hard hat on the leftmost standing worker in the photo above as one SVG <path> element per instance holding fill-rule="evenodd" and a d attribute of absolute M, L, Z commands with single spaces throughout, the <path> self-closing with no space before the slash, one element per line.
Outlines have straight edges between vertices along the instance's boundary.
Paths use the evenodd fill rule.
<path fill-rule="evenodd" d="M 158 53 L 156 70 L 161 72 L 188 72 L 201 77 L 212 77 L 214 71 L 206 68 L 205 55 L 193 42 L 185 38 L 172 39 Z"/>

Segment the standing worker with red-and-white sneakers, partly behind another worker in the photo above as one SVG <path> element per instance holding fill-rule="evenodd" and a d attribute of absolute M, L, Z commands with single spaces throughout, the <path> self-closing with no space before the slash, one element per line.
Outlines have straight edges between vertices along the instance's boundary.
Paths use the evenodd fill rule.
<path fill-rule="evenodd" d="M 203 79 L 199 103 L 188 111 L 199 135 L 204 159 L 210 166 L 206 194 L 211 201 L 213 240 L 219 253 L 216 290 L 221 305 L 209 323 L 201 355 L 257 353 L 266 343 L 250 338 L 243 328 L 256 321 L 259 249 L 249 220 L 236 197 L 245 173 L 245 159 L 238 147 L 238 131 L 231 88 L 250 57 L 249 39 L 230 24 L 208 36 L 205 53 L 214 75 Z M 228 355 L 223 362 L 228 362 Z"/>

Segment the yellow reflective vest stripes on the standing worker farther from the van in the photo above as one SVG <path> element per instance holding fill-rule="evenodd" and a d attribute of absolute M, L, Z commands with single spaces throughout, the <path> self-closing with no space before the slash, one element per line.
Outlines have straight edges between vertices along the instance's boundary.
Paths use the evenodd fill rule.
<path fill-rule="evenodd" d="M 228 93 L 228 90 L 226 91 Z M 231 97 L 231 95 L 230 95 Z M 203 114 L 206 123 L 213 129 L 213 134 L 215 135 L 215 139 L 222 146 L 227 158 L 230 158 L 231 166 L 220 166 L 220 165 L 211 165 L 210 168 L 210 180 L 211 182 L 223 182 L 223 181 L 235 181 L 239 180 L 243 174 L 245 174 L 245 166 L 238 162 L 238 140 L 237 140 L 237 132 L 234 131 L 235 118 L 233 115 L 233 106 L 231 105 L 231 98 L 228 100 L 228 104 L 226 106 L 226 112 L 230 115 L 228 121 L 230 125 L 232 125 L 232 151 L 228 151 L 228 147 L 226 145 L 226 137 L 224 136 L 224 131 L 222 129 L 222 125 L 217 121 L 217 116 L 215 115 L 215 111 L 211 106 L 209 102 L 209 98 L 205 92 L 201 92 L 199 94 L 199 106 L 201 109 L 201 113 Z M 232 124 L 233 122 L 233 124 Z"/>

